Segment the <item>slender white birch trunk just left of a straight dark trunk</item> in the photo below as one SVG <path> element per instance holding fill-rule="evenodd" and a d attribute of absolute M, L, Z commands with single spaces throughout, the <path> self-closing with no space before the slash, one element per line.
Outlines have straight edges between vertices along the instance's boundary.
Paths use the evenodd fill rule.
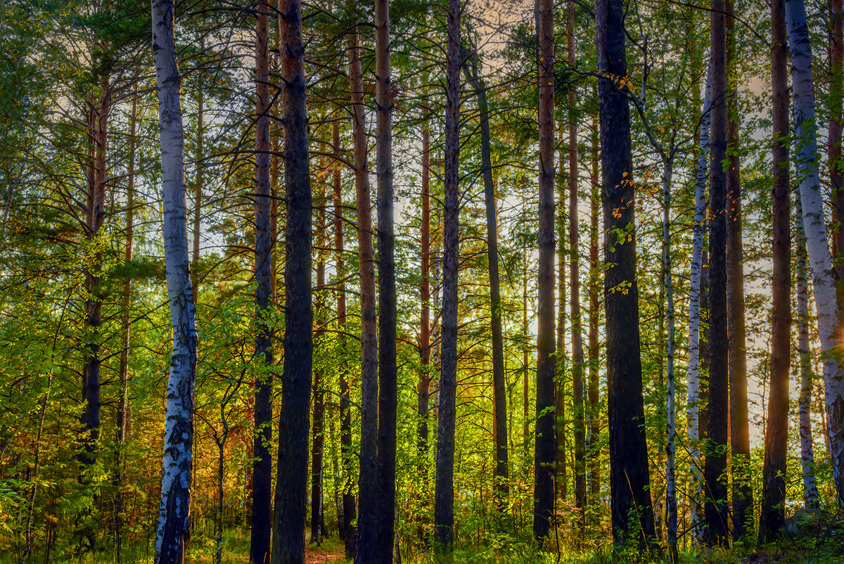
<path fill-rule="evenodd" d="M 709 163 L 709 111 L 711 110 L 711 70 L 706 78 L 706 93 L 701 107 L 701 141 L 695 172 L 695 226 L 693 229 L 691 271 L 689 274 L 689 398 L 686 432 L 689 435 L 691 470 L 691 523 L 695 539 L 703 538 L 703 507 L 701 506 L 701 447 L 699 441 L 701 389 L 701 267 L 703 263 L 703 234 L 706 230 L 706 171 Z"/>

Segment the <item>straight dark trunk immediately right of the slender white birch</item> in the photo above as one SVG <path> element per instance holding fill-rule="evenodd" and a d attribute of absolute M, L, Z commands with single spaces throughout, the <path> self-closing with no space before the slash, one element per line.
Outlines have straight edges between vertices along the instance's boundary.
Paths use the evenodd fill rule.
<path fill-rule="evenodd" d="M 703 475 L 706 503 L 705 540 L 728 542 L 728 331 L 727 331 L 727 37 L 723 0 L 711 0 L 711 160 L 709 187 L 709 449 Z"/>

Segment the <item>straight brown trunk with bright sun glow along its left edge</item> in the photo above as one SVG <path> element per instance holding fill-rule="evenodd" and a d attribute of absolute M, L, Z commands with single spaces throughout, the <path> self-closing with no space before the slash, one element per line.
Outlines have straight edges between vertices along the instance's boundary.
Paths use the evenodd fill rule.
<path fill-rule="evenodd" d="M 554 3 L 536 0 L 539 89 L 539 279 L 534 445 L 533 538 L 544 540 L 554 515 Z"/>

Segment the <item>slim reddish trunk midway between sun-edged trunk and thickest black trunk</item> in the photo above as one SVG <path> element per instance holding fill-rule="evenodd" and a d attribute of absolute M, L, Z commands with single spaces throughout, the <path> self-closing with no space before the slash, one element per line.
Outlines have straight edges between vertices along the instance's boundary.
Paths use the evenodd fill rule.
<path fill-rule="evenodd" d="M 575 68 L 575 4 L 568 2 L 566 47 L 570 68 Z M 575 87 L 569 89 L 569 108 L 576 105 Z M 569 284 L 571 287 L 571 405 L 574 409 L 575 431 L 575 507 L 580 513 L 581 531 L 586 527 L 586 421 L 583 409 L 583 339 L 580 315 L 580 262 L 578 259 L 580 233 L 577 225 L 577 124 L 569 118 Z"/>

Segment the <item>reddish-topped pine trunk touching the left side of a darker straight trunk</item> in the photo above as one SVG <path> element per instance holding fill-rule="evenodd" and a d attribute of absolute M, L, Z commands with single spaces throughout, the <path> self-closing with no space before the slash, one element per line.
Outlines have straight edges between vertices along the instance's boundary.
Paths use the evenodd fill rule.
<path fill-rule="evenodd" d="M 354 12 L 349 0 L 349 12 Z M 360 263 L 360 479 L 357 548 L 354 561 L 364 564 L 375 554 L 376 501 L 378 498 L 378 334 L 376 331 L 375 252 L 372 248 L 372 214 L 369 167 L 366 163 L 364 85 L 360 71 L 360 40 L 355 24 L 349 33 L 349 97 L 352 102 L 354 187 L 358 216 Z"/>

